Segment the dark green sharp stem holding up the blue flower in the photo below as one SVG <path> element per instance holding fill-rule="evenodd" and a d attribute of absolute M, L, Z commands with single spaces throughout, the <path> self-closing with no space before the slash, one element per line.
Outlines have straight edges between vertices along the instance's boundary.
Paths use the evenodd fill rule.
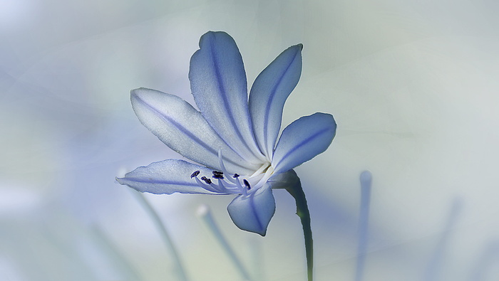
<path fill-rule="evenodd" d="M 297 215 L 302 221 L 303 235 L 305 239 L 305 255 L 307 256 L 307 278 L 314 280 L 314 241 L 312 240 L 312 228 L 310 228 L 310 213 L 307 198 L 302 189 L 302 184 L 297 178 L 297 184 L 293 184 L 286 190 L 297 202 Z"/>

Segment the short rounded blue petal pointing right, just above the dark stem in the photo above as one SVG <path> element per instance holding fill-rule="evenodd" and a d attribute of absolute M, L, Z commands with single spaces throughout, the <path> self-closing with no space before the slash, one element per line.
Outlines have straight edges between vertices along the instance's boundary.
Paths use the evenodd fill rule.
<path fill-rule="evenodd" d="M 289 171 L 324 152 L 336 134 L 333 115 L 315 113 L 295 120 L 282 131 L 275 148 L 274 173 Z"/>

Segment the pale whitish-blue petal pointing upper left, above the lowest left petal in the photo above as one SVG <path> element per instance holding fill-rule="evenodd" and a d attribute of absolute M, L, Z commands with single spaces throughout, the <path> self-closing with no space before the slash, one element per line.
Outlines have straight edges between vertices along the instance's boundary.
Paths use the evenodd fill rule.
<path fill-rule="evenodd" d="M 200 112 L 180 97 L 139 88 L 131 91 L 132 107 L 140 122 L 168 147 L 182 156 L 214 169 L 224 164 L 234 173 L 251 173 L 258 165 L 247 164 L 206 122 Z"/>

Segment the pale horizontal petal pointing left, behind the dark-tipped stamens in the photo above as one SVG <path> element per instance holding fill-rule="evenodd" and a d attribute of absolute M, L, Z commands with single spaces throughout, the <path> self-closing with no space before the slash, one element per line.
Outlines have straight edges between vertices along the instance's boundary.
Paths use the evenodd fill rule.
<path fill-rule="evenodd" d="M 211 192 L 197 185 L 195 179 L 190 178 L 194 171 L 200 171 L 200 174 L 212 173 L 211 169 L 203 166 L 183 160 L 168 159 L 155 162 L 149 166 L 138 167 L 125 174 L 123 178 L 116 180 L 120 184 L 130 186 L 137 191 L 154 194 L 171 194 L 175 192 L 227 194 Z"/>

